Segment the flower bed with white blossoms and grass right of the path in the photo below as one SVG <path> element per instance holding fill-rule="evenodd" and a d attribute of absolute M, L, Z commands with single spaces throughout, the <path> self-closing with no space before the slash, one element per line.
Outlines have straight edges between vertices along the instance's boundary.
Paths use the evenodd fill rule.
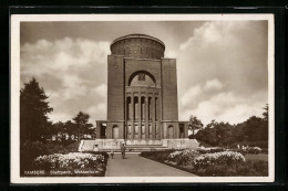
<path fill-rule="evenodd" d="M 220 148 L 153 151 L 141 156 L 202 177 L 268 176 L 267 161 L 247 161 L 240 152 Z"/>

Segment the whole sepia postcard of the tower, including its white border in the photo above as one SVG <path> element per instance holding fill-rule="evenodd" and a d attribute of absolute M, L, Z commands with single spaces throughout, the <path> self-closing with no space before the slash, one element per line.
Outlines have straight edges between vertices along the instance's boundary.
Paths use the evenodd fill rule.
<path fill-rule="evenodd" d="M 12 14 L 11 182 L 272 182 L 274 30 L 272 14 Z"/>

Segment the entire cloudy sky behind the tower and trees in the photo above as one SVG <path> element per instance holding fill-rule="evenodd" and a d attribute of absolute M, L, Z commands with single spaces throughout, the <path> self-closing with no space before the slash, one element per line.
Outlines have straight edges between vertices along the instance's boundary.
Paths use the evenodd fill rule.
<path fill-rule="evenodd" d="M 268 103 L 267 21 L 22 22 L 21 87 L 35 77 L 53 121 L 80 110 L 106 119 L 110 43 L 144 33 L 177 59 L 179 120 L 237 124 Z"/>

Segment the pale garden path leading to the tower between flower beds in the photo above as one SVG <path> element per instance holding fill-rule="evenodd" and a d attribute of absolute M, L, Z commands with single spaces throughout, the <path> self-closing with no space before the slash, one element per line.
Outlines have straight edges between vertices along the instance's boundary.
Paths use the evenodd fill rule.
<path fill-rule="evenodd" d="M 195 177 L 195 174 L 140 157 L 138 153 L 115 153 L 109 158 L 106 177 Z"/>

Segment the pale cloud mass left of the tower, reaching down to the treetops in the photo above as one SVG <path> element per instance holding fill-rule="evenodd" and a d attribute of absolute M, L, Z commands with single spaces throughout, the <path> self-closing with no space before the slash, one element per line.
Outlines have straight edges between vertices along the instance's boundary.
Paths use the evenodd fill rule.
<path fill-rule="evenodd" d="M 52 120 L 72 119 L 80 110 L 105 110 L 106 41 L 63 38 L 38 40 L 21 46 L 21 84 L 35 77 L 49 95 Z M 91 118 L 100 114 L 92 110 Z M 105 118 L 104 115 L 101 117 Z"/>

